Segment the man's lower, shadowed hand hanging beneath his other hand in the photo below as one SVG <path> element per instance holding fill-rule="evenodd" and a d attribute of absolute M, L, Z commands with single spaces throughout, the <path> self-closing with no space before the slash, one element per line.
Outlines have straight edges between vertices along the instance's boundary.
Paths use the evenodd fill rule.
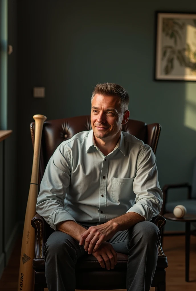
<path fill-rule="evenodd" d="M 102 242 L 99 249 L 95 252 L 93 251 L 92 255 L 98 260 L 102 268 L 105 268 L 106 264 L 107 270 L 110 268 L 114 269 L 114 266 L 117 264 L 117 253 L 108 242 Z"/>

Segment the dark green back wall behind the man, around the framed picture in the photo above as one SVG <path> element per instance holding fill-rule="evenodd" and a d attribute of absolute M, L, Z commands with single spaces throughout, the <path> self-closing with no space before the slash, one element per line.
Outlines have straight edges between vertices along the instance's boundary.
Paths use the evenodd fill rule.
<path fill-rule="evenodd" d="M 153 68 L 155 11 L 196 11 L 196 2 L 20 0 L 17 8 L 20 220 L 31 178 L 32 116 L 89 114 L 97 82 L 115 82 L 127 89 L 132 119 L 162 125 L 156 155 L 161 187 L 191 182 L 196 131 L 184 125 L 184 118 L 186 94 L 195 98 L 196 83 L 153 81 Z M 33 98 L 34 86 L 46 87 L 44 99 Z M 175 192 L 170 199 L 182 195 Z"/>

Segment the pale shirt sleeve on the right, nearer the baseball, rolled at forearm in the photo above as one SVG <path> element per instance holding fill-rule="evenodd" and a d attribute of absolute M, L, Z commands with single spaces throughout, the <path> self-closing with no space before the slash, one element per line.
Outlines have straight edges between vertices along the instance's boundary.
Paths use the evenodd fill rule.
<path fill-rule="evenodd" d="M 158 182 L 156 157 L 149 146 L 144 148 L 138 157 L 133 191 L 136 194 L 136 203 L 126 213 L 136 212 L 146 221 L 159 214 L 163 194 Z"/>

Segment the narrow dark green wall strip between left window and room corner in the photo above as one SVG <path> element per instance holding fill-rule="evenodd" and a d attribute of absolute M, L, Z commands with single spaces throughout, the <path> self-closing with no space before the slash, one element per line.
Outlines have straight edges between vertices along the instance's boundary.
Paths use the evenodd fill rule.
<path fill-rule="evenodd" d="M 20 208 L 17 207 L 17 1 L 8 0 L 8 45 L 13 46 L 7 62 L 7 129 L 5 141 L 5 253 L 6 264 L 17 239 Z"/>

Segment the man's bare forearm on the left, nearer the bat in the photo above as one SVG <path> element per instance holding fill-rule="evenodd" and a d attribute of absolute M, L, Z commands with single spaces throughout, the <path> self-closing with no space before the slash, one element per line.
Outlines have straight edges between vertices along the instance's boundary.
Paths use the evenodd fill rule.
<path fill-rule="evenodd" d="M 73 220 L 66 220 L 57 224 L 57 229 L 67 233 L 78 242 L 80 241 L 81 234 L 86 231 L 86 228 L 76 223 Z"/>

